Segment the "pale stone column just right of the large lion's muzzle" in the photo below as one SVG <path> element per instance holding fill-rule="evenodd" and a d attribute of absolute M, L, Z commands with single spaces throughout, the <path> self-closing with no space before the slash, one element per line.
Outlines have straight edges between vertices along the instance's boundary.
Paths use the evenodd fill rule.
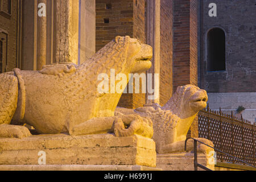
<path fill-rule="evenodd" d="M 147 39 L 146 43 L 153 48 L 153 58 L 152 67 L 147 71 L 147 73 L 152 73 L 152 85 L 153 89 L 159 90 L 154 85 L 154 75 L 160 73 L 160 0 L 147 0 Z M 157 80 L 159 83 L 159 80 Z M 155 100 L 149 100 L 148 96 L 150 93 L 146 94 L 146 105 L 159 104 L 159 94 L 158 98 Z"/>

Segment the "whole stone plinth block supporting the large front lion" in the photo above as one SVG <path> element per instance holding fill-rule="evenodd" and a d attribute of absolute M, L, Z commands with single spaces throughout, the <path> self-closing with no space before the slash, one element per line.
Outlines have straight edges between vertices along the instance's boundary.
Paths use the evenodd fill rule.
<path fill-rule="evenodd" d="M 155 142 L 139 135 L 115 137 L 98 134 L 33 135 L 24 139 L 0 138 L 0 165 L 81 164 L 156 167 Z"/>

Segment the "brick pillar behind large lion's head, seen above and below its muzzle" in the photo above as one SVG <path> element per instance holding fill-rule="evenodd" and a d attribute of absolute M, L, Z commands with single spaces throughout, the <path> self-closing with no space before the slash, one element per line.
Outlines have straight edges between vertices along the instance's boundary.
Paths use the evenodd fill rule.
<path fill-rule="evenodd" d="M 129 35 L 145 43 L 144 19 L 144 0 L 96 0 L 96 51 L 118 35 Z M 123 94 L 118 106 L 137 108 L 143 104 L 145 94 Z"/>

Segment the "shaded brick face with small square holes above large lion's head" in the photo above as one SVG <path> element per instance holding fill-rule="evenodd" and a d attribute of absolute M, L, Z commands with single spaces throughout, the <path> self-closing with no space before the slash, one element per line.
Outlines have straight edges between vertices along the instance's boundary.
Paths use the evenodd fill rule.
<path fill-rule="evenodd" d="M 118 35 L 133 37 L 133 0 L 96 0 L 96 51 Z"/>

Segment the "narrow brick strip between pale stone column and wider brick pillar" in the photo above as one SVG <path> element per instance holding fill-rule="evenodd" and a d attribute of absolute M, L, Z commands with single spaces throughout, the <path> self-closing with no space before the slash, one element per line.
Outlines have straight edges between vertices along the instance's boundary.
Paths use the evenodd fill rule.
<path fill-rule="evenodd" d="M 160 14 L 160 105 L 172 96 L 172 3 L 161 1 Z"/>

